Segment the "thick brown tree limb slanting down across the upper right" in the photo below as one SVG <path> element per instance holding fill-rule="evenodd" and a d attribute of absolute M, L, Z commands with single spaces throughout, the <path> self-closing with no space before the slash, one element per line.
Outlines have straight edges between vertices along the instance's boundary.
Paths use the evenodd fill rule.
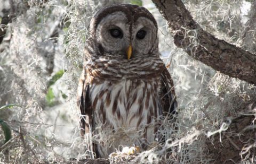
<path fill-rule="evenodd" d="M 256 84 L 256 55 L 204 31 L 181 0 L 152 0 L 174 33 L 174 43 L 214 70 Z"/>

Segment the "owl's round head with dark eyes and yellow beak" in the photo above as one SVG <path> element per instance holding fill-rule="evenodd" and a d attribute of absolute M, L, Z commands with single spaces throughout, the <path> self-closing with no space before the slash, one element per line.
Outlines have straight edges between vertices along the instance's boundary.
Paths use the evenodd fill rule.
<path fill-rule="evenodd" d="M 156 20 L 137 5 L 102 8 L 91 20 L 90 38 L 98 55 L 127 59 L 158 56 Z"/>

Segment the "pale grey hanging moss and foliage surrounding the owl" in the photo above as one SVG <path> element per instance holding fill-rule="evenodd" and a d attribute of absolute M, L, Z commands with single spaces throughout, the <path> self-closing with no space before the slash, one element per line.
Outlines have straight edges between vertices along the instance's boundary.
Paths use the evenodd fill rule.
<path fill-rule="evenodd" d="M 6 29 L 6 34 L 0 44 L 0 107 L 11 103 L 20 107 L 0 110 L 0 119 L 12 131 L 12 139 L 4 143 L 0 128 L 0 162 L 85 158 L 75 106 L 83 47 L 93 13 L 114 3 L 143 5 L 158 22 L 159 49 L 169 66 L 179 103 L 179 131 L 165 147 L 173 150 L 175 158 L 166 160 L 213 162 L 207 145 L 214 140 L 211 136 L 227 130 L 233 118 L 254 115 L 254 85 L 216 72 L 175 47 L 166 21 L 151 1 L 1 0 L 0 29 Z M 183 3 L 204 30 L 255 53 L 254 1 Z M 6 13 L 10 19 L 7 25 L 3 23 Z M 238 158 L 253 160 L 251 148 Z"/>

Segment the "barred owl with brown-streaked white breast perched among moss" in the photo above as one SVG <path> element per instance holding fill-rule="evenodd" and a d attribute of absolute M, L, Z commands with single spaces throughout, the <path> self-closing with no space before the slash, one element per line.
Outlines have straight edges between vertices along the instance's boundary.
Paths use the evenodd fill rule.
<path fill-rule="evenodd" d="M 174 114 L 173 82 L 159 57 L 157 22 L 144 7 L 102 8 L 92 18 L 78 84 L 81 134 L 108 157 L 119 145 L 147 149 Z"/>

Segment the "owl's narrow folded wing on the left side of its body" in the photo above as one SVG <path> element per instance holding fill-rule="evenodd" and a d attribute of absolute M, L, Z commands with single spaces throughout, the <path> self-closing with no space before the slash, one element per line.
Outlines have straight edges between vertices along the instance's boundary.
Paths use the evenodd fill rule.
<path fill-rule="evenodd" d="M 90 84 L 86 82 L 86 72 L 83 70 L 77 89 L 77 106 L 81 111 L 81 135 L 92 132 L 92 103 L 90 100 Z"/>

